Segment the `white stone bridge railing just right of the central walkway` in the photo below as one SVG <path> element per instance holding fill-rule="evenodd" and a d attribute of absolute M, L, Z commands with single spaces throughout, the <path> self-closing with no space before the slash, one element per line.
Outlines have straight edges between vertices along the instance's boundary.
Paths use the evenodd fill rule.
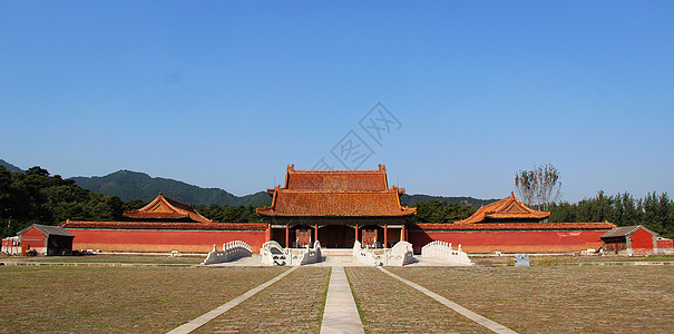
<path fill-rule="evenodd" d="M 390 249 L 373 249 L 353 243 L 353 257 L 362 264 L 373 266 L 403 266 L 414 262 L 412 244 L 399 242 Z"/>

